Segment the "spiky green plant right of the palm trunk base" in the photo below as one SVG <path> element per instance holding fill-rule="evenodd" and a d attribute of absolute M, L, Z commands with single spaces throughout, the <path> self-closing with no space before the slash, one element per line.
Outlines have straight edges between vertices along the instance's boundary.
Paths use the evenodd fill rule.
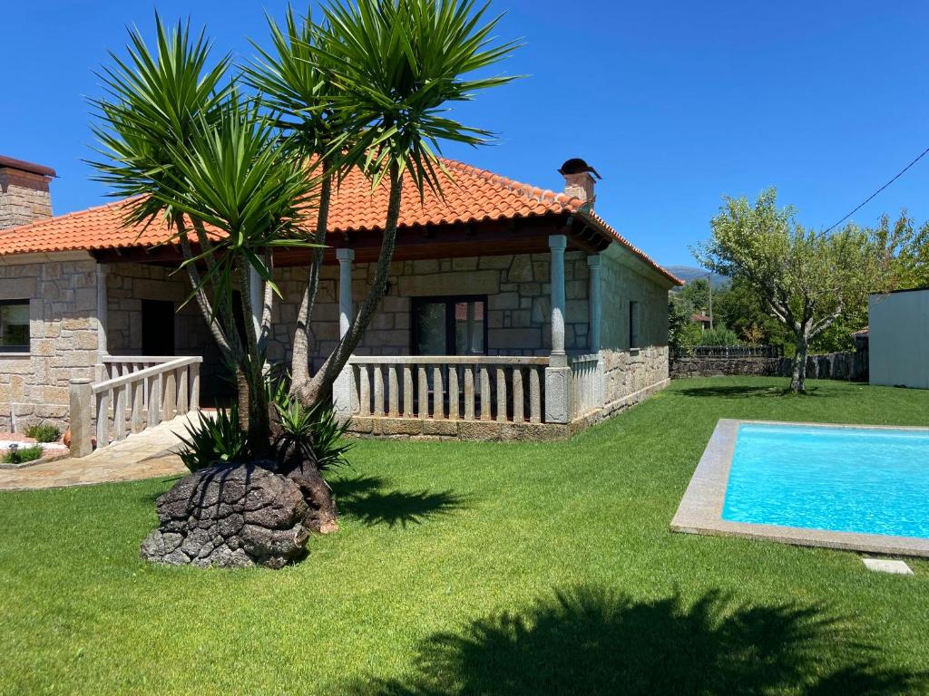
<path fill-rule="evenodd" d="M 283 389 L 275 390 L 273 403 L 281 431 L 275 441 L 278 452 L 294 452 L 321 471 L 348 466 L 346 453 L 352 444 L 342 440 L 348 423 L 340 423 L 331 406 L 303 406 Z"/>

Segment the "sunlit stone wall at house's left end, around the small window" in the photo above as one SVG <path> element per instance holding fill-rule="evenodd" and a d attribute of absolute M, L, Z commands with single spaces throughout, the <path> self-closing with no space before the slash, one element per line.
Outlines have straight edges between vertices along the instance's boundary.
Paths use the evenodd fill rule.
<path fill-rule="evenodd" d="M 97 277 L 84 253 L 22 256 L 0 264 L 0 300 L 29 300 L 30 352 L 0 354 L 0 429 L 67 426 L 72 378 L 97 363 Z M 2 349 L 0 349 L 2 350 Z"/>

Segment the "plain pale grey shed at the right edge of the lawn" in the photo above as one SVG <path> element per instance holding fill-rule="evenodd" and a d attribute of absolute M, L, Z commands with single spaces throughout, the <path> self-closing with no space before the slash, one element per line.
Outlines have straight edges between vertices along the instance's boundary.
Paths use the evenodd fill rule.
<path fill-rule="evenodd" d="M 871 384 L 929 389 L 929 288 L 870 296 L 868 350 Z"/>

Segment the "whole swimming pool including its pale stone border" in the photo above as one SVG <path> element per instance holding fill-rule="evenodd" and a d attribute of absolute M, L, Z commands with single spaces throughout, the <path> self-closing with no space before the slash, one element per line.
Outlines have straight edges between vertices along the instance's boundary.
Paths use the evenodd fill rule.
<path fill-rule="evenodd" d="M 929 556 L 929 429 L 720 419 L 671 528 Z"/>

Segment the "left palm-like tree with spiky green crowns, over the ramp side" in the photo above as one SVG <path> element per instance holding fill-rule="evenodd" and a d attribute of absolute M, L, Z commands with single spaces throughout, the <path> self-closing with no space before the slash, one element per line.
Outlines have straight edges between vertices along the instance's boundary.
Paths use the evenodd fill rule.
<path fill-rule="evenodd" d="M 207 71 L 203 34 L 191 41 L 186 27 L 168 32 L 157 17 L 156 33 L 156 55 L 130 32 L 130 62 L 113 55 L 115 67 L 104 72 L 108 97 L 95 102 L 100 115 L 95 132 L 109 161 L 94 166 L 118 195 L 137 196 L 127 204 L 126 225 L 161 217 L 167 222 L 168 241 L 183 251 L 192 296 L 235 368 L 242 430 L 253 436 L 258 454 L 268 454 L 263 344 L 275 288 L 264 254 L 276 246 L 306 244 L 300 226 L 311 182 L 294 167 L 292 148 L 259 105 L 242 100 L 225 82 L 228 58 Z M 191 248 L 189 226 L 198 252 Z M 251 269 L 266 284 L 260 329 L 249 320 Z M 246 319 L 243 338 L 234 320 L 237 310 Z"/>

